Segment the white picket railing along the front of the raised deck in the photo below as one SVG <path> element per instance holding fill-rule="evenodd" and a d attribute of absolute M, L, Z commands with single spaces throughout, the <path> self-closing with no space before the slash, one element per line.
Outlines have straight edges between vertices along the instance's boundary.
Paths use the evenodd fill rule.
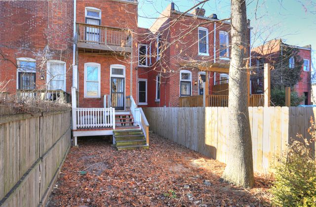
<path fill-rule="evenodd" d="M 73 108 L 76 114 L 76 128 L 113 127 L 114 108 Z"/>

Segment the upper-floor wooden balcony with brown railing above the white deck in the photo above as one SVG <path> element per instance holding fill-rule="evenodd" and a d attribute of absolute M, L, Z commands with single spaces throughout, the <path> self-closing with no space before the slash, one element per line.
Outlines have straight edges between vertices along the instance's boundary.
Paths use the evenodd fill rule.
<path fill-rule="evenodd" d="M 91 24 L 76 24 L 75 42 L 80 52 L 128 52 L 132 48 L 129 30 Z"/>

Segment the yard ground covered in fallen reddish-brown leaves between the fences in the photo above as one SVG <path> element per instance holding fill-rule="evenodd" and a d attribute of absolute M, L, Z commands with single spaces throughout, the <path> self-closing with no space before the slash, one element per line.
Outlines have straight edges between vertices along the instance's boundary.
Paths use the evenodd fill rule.
<path fill-rule="evenodd" d="M 72 147 L 47 206 L 265 206 L 271 180 L 255 188 L 219 181 L 225 165 L 158 135 L 149 150 L 117 151 L 104 138 Z"/>

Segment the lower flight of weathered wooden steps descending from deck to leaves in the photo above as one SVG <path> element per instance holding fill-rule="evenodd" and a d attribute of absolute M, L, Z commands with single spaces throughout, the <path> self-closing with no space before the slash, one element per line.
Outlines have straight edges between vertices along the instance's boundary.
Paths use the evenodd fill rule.
<path fill-rule="evenodd" d="M 148 149 L 146 138 L 141 128 L 115 129 L 113 131 L 115 146 L 118 150 Z"/>

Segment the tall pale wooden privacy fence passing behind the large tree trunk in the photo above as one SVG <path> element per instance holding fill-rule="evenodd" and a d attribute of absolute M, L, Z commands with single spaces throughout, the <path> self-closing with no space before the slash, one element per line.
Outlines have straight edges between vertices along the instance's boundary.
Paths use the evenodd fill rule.
<path fill-rule="evenodd" d="M 151 130 L 173 142 L 226 163 L 229 154 L 228 107 L 144 108 Z M 307 129 L 316 107 L 249 107 L 253 166 L 271 172 L 286 145 Z M 315 155 L 315 143 L 310 145 Z"/>

